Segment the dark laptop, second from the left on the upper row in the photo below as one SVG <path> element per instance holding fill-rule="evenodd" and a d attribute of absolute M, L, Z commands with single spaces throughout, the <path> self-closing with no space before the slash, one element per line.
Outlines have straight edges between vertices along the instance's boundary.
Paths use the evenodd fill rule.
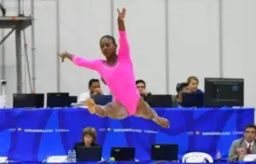
<path fill-rule="evenodd" d="M 63 108 L 70 106 L 69 93 L 47 93 L 48 108 Z"/>

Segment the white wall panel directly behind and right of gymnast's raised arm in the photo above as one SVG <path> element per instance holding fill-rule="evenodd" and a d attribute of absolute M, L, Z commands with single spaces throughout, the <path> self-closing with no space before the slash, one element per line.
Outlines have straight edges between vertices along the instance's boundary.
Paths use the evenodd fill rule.
<path fill-rule="evenodd" d="M 114 0 L 114 9 L 123 7 L 136 76 L 148 82 L 153 93 L 166 93 L 165 1 Z M 114 27 L 118 37 L 116 21 Z"/>

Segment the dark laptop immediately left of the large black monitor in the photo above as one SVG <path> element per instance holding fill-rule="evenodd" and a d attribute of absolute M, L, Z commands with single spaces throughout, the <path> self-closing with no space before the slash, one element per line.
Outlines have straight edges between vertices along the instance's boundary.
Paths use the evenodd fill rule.
<path fill-rule="evenodd" d="M 204 93 L 183 93 L 183 107 L 203 107 Z"/>

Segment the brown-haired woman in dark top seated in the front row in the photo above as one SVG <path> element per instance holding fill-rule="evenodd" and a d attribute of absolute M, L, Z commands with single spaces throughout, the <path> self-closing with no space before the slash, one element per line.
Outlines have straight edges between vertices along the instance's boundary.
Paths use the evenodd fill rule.
<path fill-rule="evenodd" d="M 82 142 L 73 145 L 73 150 L 78 153 L 79 147 L 99 146 L 96 144 L 96 129 L 94 127 L 85 127 L 82 134 Z"/>

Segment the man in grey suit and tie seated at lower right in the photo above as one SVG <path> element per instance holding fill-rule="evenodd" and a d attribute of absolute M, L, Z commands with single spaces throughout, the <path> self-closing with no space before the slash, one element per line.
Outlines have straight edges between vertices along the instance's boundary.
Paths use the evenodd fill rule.
<path fill-rule="evenodd" d="M 249 124 L 244 129 L 244 137 L 233 141 L 228 161 L 242 161 L 243 157 L 249 154 L 256 154 L 256 127 L 255 125 Z"/>

